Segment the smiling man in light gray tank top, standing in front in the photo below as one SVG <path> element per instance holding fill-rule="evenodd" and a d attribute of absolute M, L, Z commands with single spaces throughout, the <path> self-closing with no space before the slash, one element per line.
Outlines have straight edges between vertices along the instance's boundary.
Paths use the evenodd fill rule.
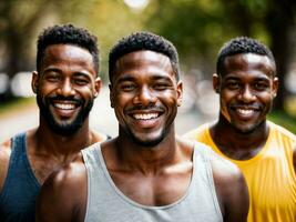
<path fill-rule="evenodd" d="M 119 135 L 47 180 L 38 221 L 246 221 L 241 171 L 175 135 L 183 85 L 174 46 L 149 32 L 127 36 L 110 52 L 109 78 Z"/>

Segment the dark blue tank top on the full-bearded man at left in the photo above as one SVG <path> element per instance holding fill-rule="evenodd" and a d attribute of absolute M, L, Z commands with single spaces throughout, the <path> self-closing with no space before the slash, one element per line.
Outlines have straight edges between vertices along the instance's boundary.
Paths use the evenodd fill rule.
<path fill-rule="evenodd" d="M 35 218 L 35 199 L 41 185 L 31 169 L 25 144 L 25 133 L 12 138 L 8 173 L 0 192 L 1 222 L 33 222 Z"/>

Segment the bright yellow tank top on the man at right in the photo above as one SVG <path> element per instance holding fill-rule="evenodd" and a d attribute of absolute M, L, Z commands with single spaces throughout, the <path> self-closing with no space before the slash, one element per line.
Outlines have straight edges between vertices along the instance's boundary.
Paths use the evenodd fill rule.
<path fill-rule="evenodd" d="M 206 143 L 242 170 L 251 196 L 248 222 L 296 222 L 296 173 L 293 165 L 296 137 L 269 121 L 268 125 L 265 147 L 254 158 L 243 161 L 229 159 L 218 150 L 208 124 L 185 137 Z"/>

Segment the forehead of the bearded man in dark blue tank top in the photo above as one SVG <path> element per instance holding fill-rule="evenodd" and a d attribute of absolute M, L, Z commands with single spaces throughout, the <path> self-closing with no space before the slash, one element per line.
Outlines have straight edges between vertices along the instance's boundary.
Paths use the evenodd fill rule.
<path fill-rule="evenodd" d="M 73 44 L 52 44 L 47 47 L 41 67 L 52 64 L 71 64 L 94 67 L 92 54 L 86 50 Z"/>

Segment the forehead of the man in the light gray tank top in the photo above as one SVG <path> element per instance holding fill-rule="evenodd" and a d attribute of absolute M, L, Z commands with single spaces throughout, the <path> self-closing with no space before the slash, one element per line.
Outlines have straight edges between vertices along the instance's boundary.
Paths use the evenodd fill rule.
<path fill-rule="evenodd" d="M 112 79 L 123 74 L 133 74 L 134 78 L 153 74 L 174 77 L 170 58 L 150 50 L 135 51 L 119 58 Z"/>

